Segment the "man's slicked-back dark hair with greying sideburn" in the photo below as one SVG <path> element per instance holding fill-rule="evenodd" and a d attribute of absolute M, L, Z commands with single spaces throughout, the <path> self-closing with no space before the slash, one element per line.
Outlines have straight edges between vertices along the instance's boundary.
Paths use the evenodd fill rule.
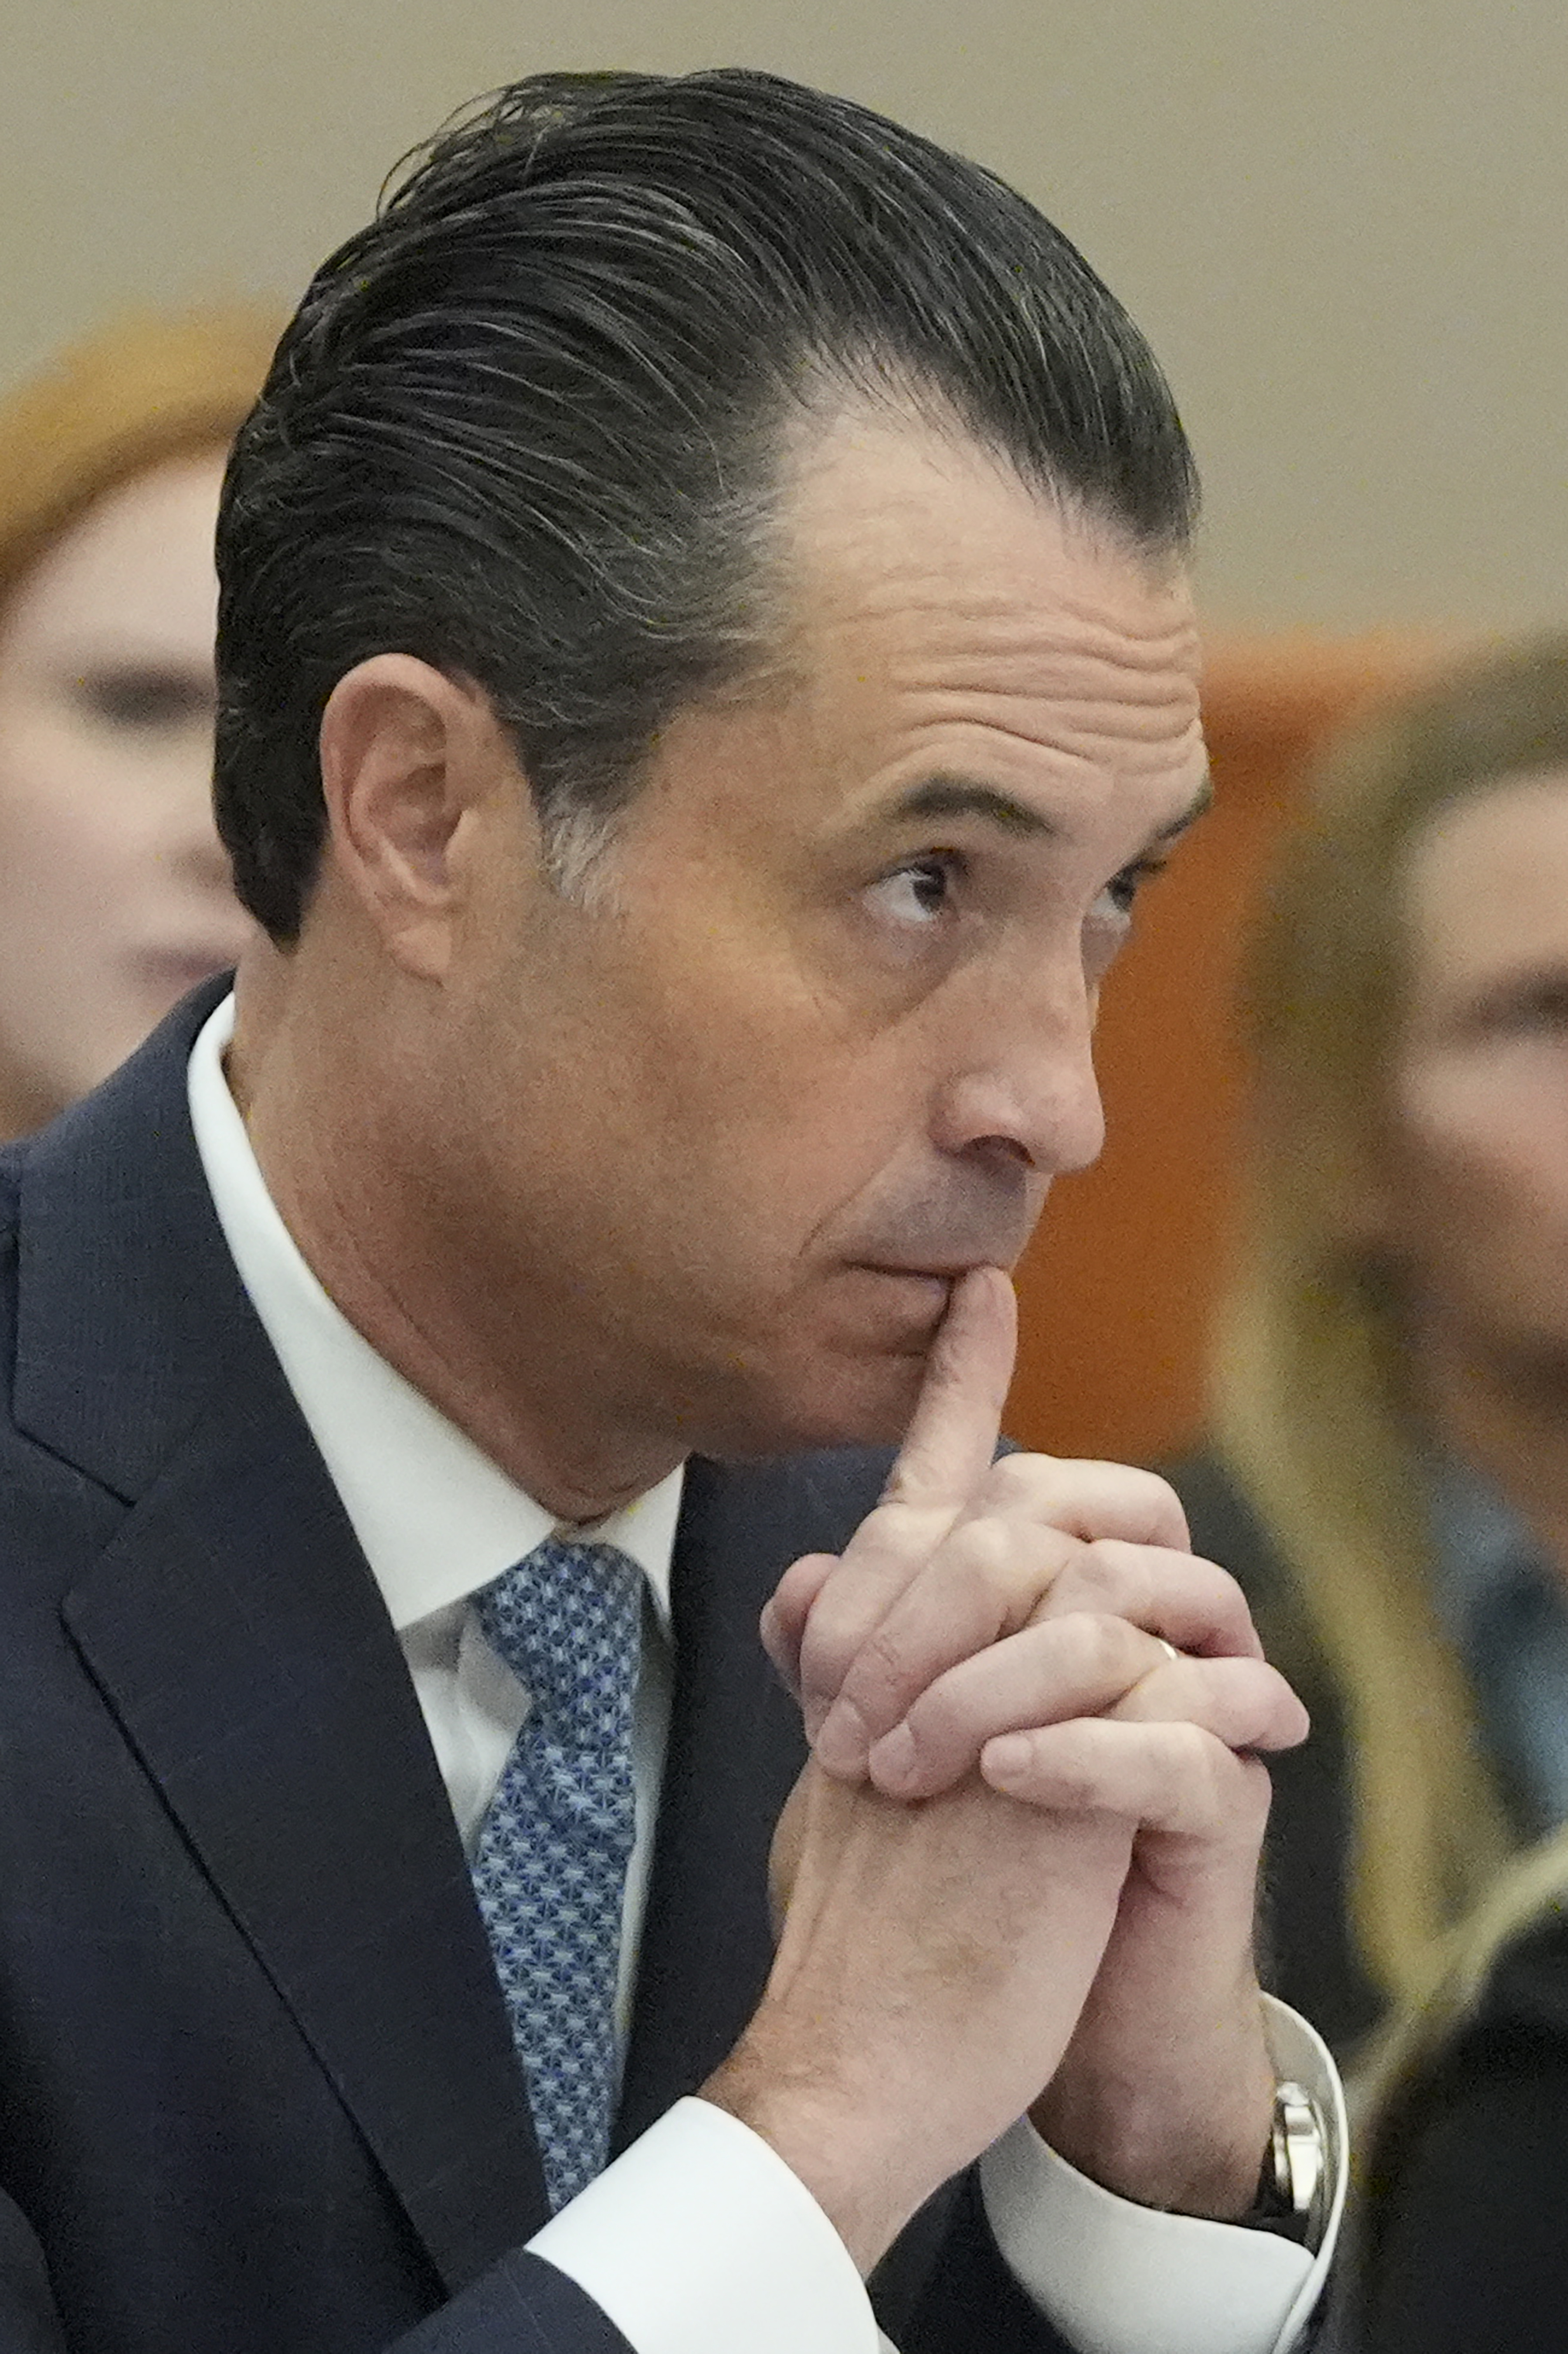
<path fill-rule="evenodd" d="M 407 652 L 480 685 L 546 843 L 603 831 L 685 701 L 768 640 L 793 400 L 956 419 L 1132 546 L 1191 534 L 1142 334 L 994 174 L 763 73 L 516 82 L 318 271 L 219 518 L 217 817 L 283 942 L 320 716 Z"/>

